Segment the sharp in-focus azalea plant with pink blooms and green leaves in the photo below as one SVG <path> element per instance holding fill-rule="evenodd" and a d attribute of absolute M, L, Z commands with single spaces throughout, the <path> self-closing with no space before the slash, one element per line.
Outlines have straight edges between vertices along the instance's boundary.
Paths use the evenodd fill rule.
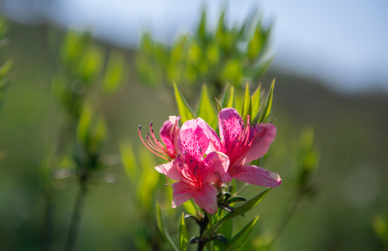
<path fill-rule="evenodd" d="M 267 100 L 262 105 L 260 87 L 251 96 L 249 86 L 246 86 L 241 109 L 245 119 L 234 107 L 222 105 L 224 103 L 233 106 L 234 94 L 231 93 L 231 89 L 227 90 L 229 96 L 225 95 L 223 102 L 218 102 L 218 113 L 211 112 L 215 111 L 211 109 L 212 107 L 208 107 L 207 112 L 200 112 L 199 109 L 198 114 L 206 113 L 207 116 L 204 117 L 218 116 L 218 134 L 216 128 L 211 128 L 204 119 L 193 118 L 191 108 L 176 85 L 174 89 L 179 112 L 183 116 L 170 116 L 170 119 L 163 123 L 159 130 L 161 140 L 156 138 L 152 123 L 145 139 L 142 137 L 140 126 L 140 139 L 149 151 L 168 161 L 157 165 L 155 169 L 171 181 L 177 181 L 171 184 L 172 208 L 192 199 L 195 206 L 202 209 L 197 210 L 195 215 L 185 217 L 194 218 L 200 226 L 200 236 L 191 238 L 190 243 L 198 243 L 197 250 L 203 250 L 205 245 L 208 250 L 234 250 L 244 243 L 258 217 L 234 236 L 223 233 L 223 225 L 227 225 L 226 222 L 232 218 L 250 211 L 267 195 L 269 189 L 247 201 L 239 196 L 238 192 L 232 192 L 232 179 L 267 188 L 281 185 L 278 174 L 258 165 L 250 165 L 267 154 L 276 137 L 276 127 L 271 123 L 264 123 L 271 111 L 274 82 L 271 84 Z M 202 104 L 209 101 L 207 97 L 209 96 L 204 87 Z M 211 103 L 207 105 L 211 106 Z M 254 118 L 253 121 L 251 117 Z M 182 126 L 179 126 L 179 121 L 182 122 Z M 246 202 L 241 206 L 235 206 L 237 202 L 242 201 Z M 158 210 L 158 222 L 162 225 L 160 208 Z M 186 250 L 187 238 L 183 236 L 186 233 L 183 230 L 184 226 L 182 219 L 180 250 Z M 165 228 L 160 226 L 160 229 L 175 248 L 176 245 L 167 236 Z M 227 231 L 230 232 L 231 229 Z M 215 240 L 218 241 L 211 243 Z"/>

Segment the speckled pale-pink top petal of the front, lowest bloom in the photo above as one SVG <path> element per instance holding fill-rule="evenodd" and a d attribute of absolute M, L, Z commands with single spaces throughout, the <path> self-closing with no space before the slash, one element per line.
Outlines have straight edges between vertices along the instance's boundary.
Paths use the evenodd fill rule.
<path fill-rule="evenodd" d="M 202 119 L 191 119 L 186 121 L 179 132 L 179 152 L 193 156 L 200 160 L 209 146 L 209 139 L 204 134 L 201 123 Z"/>

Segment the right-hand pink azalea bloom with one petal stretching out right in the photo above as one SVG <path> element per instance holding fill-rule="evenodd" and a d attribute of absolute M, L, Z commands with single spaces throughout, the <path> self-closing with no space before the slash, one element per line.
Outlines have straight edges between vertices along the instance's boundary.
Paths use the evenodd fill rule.
<path fill-rule="evenodd" d="M 218 114 L 218 128 L 221 141 L 216 132 L 209 139 L 211 146 L 208 151 L 221 151 L 230 158 L 227 172 L 239 181 L 269 188 L 281 184 L 278 174 L 269 172 L 262 167 L 247 165 L 252 160 L 262 158 L 267 153 L 269 145 L 276 136 L 276 127 L 271 123 L 259 123 L 253 126 L 249 123 L 249 116 L 244 121 L 233 108 L 222 109 Z"/>

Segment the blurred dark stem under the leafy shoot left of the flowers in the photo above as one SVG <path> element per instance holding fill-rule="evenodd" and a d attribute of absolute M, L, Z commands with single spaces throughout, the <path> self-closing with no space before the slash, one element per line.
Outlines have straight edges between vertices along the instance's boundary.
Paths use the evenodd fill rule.
<path fill-rule="evenodd" d="M 82 206 L 84 205 L 85 195 L 87 194 L 87 176 L 80 176 L 80 190 L 78 190 L 77 199 L 71 216 L 70 227 L 68 229 L 68 238 L 64 251 L 71 251 L 74 248 L 77 238 L 79 223 L 81 220 Z"/>

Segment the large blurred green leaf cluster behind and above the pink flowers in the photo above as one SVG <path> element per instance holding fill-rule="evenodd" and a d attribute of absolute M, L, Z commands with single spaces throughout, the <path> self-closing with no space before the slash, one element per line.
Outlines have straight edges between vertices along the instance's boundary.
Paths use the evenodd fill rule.
<path fill-rule="evenodd" d="M 207 83 L 211 96 L 220 93 L 226 83 L 258 82 L 271 63 L 267 56 L 271 26 L 262 24 L 256 14 L 229 27 L 224 11 L 210 31 L 203 11 L 195 34 L 181 35 L 172 45 L 156 42 L 145 33 L 136 56 L 141 81 L 151 86 L 177 82 L 184 91 Z"/>

